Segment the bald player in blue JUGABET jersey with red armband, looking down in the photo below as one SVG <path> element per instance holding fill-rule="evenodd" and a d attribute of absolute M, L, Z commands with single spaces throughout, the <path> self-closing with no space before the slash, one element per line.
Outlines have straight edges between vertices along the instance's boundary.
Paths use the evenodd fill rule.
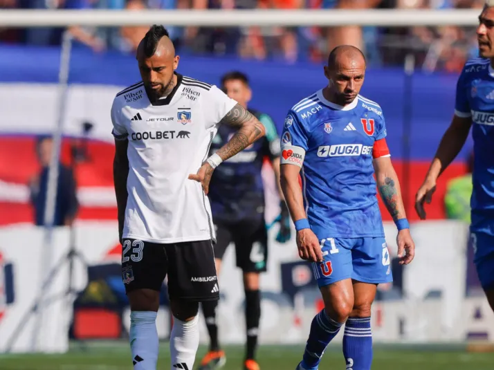
<path fill-rule="evenodd" d="M 371 305 L 377 285 L 392 281 L 376 183 L 399 230 L 400 263 L 412 261 L 414 243 L 386 145 L 383 111 L 358 95 L 365 57 L 354 46 L 338 46 L 324 75 L 329 84 L 290 109 L 282 133 L 282 189 L 299 256 L 312 262 L 324 301 L 297 370 L 318 369 L 343 324 L 347 369 L 369 370 Z"/>

